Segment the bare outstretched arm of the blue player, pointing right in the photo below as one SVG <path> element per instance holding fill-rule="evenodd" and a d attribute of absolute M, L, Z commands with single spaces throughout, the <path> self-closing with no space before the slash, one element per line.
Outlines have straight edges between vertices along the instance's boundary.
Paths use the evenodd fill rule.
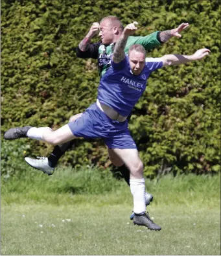
<path fill-rule="evenodd" d="M 180 65 L 187 62 L 192 62 L 194 60 L 201 60 L 202 58 L 207 56 L 209 52 L 209 49 L 204 48 L 196 51 L 192 55 L 168 54 L 164 55 L 160 59 L 163 62 L 163 67 L 167 65 Z"/>

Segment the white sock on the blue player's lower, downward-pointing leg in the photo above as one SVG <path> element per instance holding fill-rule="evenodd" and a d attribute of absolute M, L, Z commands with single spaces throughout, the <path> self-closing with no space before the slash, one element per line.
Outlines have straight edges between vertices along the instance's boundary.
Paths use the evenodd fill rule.
<path fill-rule="evenodd" d="M 145 213 L 145 179 L 130 179 L 130 191 L 134 196 L 134 213 Z"/>

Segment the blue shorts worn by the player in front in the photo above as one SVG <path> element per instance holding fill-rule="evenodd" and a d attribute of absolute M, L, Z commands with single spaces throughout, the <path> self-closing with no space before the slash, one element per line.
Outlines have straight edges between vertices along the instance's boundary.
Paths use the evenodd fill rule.
<path fill-rule="evenodd" d="M 102 138 L 108 148 L 137 148 L 128 129 L 128 121 L 110 119 L 97 104 L 92 104 L 81 117 L 68 124 L 76 137 Z"/>

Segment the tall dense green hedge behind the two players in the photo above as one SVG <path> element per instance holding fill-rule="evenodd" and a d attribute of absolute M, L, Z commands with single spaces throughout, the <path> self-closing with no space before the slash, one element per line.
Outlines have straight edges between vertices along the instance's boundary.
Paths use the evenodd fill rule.
<path fill-rule="evenodd" d="M 130 130 L 146 176 L 220 171 L 219 1 L 3 0 L 1 132 L 27 124 L 58 128 L 95 102 L 96 61 L 76 58 L 74 48 L 93 22 L 108 15 L 119 16 L 124 25 L 138 21 L 136 35 L 141 36 L 190 23 L 182 38 L 172 38 L 148 56 L 211 50 L 201 62 L 152 73 L 133 111 Z M 6 150 L 8 144 L 2 141 L 3 173 L 16 150 L 25 152 L 16 155 L 21 160 L 27 155 L 45 156 L 52 148 L 38 141 L 13 143 Z M 61 161 L 108 167 L 107 159 L 102 141 L 79 140 Z"/>

